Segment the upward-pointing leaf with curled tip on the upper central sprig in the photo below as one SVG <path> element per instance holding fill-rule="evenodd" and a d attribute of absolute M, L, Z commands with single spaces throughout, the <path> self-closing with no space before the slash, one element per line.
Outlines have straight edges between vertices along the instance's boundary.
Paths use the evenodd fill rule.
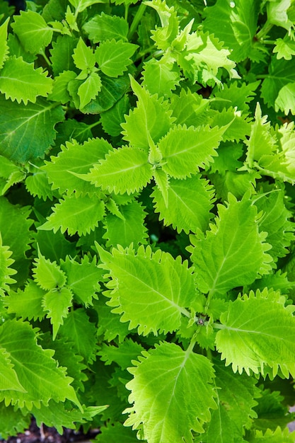
<path fill-rule="evenodd" d="M 122 123 L 123 139 L 134 147 L 147 150 L 149 137 L 157 143 L 170 130 L 175 119 L 171 117 L 168 103 L 163 98 L 151 96 L 131 76 L 130 82 L 138 102 L 137 107 L 125 117 L 126 122 Z"/>

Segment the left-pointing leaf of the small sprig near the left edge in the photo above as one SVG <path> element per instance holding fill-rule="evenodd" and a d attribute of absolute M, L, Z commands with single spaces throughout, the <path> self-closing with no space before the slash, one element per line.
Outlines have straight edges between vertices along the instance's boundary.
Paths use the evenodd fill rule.
<path fill-rule="evenodd" d="M 46 292 L 33 280 L 28 280 L 25 289 L 11 292 L 4 300 L 8 313 L 16 313 L 16 316 L 28 320 L 42 320 L 45 312 L 42 308 L 42 299 Z"/>

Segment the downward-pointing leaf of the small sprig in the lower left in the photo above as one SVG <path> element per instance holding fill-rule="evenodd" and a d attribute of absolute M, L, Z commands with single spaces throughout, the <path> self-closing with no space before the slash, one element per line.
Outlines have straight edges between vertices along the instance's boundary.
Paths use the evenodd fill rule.
<path fill-rule="evenodd" d="M 59 330 L 59 326 L 64 324 L 64 317 L 69 313 L 72 306 L 71 300 L 73 293 L 68 287 L 62 287 L 52 290 L 45 294 L 42 300 L 42 307 L 47 312 L 47 318 L 50 318 L 52 324 L 52 338 L 55 340 Z"/>

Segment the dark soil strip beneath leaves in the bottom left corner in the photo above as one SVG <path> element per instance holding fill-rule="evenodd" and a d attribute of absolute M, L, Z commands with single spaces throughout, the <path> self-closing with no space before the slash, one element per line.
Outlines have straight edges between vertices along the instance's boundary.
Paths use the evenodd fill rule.
<path fill-rule="evenodd" d="M 0 439 L 1 443 L 90 443 L 90 439 L 94 439 L 99 434 L 99 430 L 91 430 L 88 434 L 74 431 L 72 429 L 64 429 L 60 435 L 54 427 L 42 426 L 37 427 L 33 419 L 30 428 L 23 434 L 18 434 L 16 437 L 8 437 L 7 440 Z"/>

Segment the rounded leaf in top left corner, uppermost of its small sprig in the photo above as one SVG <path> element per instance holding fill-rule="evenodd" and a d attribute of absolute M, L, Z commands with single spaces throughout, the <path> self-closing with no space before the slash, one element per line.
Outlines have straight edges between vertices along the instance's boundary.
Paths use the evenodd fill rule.
<path fill-rule="evenodd" d="M 20 16 L 15 16 L 11 26 L 25 50 L 31 54 L 42 52 L 52 40 L 52 28 L 47 26 L 40 13 L 30 9 L 21 11 Z"/>

